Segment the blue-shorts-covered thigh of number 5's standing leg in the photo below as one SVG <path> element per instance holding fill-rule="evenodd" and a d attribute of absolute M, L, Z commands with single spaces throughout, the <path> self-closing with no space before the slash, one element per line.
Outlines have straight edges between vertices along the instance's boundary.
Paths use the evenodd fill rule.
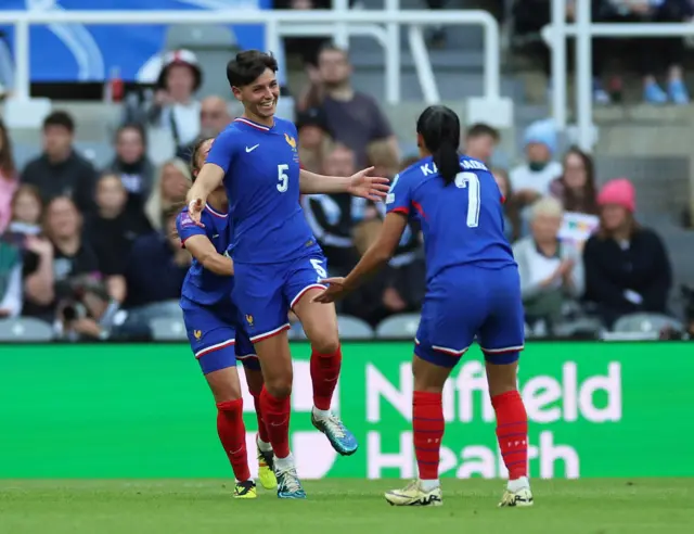
<path fill-rule="evenodd" d="M 241 314 L 241 327 L 255 344 L 290 328 L 283 295 L 282 264 L 234 264 L 232 300 Z"/>

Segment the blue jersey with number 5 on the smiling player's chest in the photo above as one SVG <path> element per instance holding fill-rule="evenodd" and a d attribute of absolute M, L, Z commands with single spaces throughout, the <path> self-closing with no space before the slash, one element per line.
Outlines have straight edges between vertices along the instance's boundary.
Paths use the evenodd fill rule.
<path fill-rule="evenodd" d="M 236 118 L 215 140 L 207 163 L 224 170 L 234 262 L 287 262 L 317 247 L 299 205 L 297 137 L 288 120 Z"/>

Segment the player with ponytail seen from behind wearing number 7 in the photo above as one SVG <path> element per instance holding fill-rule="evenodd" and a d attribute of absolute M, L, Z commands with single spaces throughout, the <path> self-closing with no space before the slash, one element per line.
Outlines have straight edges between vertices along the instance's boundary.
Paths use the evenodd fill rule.
<path fill-rule="evenodd" d="M 420 478 L 386 493 L 397 506 L 440 506 L 438 481 L 444 409 L 451 370 L 475 336 L 485 355 L 497 436 L 509 469 L 499 506 L 530 506 L 528 418 L 516 386 L 524 345 L 518 268 L 503 233 L 503 199 L 487 167 L 461 156 L 460 120 L 445 106 L 416 123 L 422 160 L 396 176 L 378 240 L 346 278 L 331 278 L 316 301 L 332 303 L 359 285 L 395 251 L 408 224 L 422 224 L 426 295 L 414 340 L 412 425 Z"/>

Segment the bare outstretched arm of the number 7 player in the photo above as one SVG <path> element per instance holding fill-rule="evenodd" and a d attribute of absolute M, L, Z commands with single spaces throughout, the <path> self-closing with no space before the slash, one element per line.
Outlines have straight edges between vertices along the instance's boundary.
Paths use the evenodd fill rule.
<path fill-rule="evenodd" d="M 378 239 L 369 247 L 351 272 L 346 278 L 323 280 L 329 284 L 329 288 L 318 294 L 313 301 L 322 303 L 335 302 L 361 285 L 370 275 L 393 257 L 407 226 L 407 215 L 401 213 L 386 215 Z"/>

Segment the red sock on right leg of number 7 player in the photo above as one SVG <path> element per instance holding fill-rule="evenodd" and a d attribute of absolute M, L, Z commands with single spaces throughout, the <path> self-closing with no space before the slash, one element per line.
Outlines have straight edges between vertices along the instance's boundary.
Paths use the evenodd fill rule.
<path fill-rule="evenodd" d="M 517 391 L 491 397 L 497 412 L 497 437 L 509 480 L 528 475 L 528 415 Z"/>

